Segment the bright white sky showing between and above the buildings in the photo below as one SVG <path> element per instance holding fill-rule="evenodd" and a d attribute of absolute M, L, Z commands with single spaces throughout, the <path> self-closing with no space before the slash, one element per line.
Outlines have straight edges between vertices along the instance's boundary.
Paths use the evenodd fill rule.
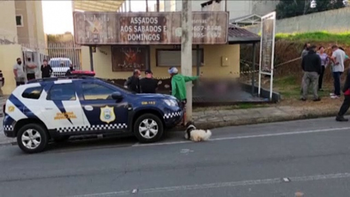
<path fill-rule="evenodd" d="M 156 1 L 149 0 L 148 7 L 156 4 Z M 131 1 L 131 11 L 140 12 L 146 10 L 145 1 Z M 127 1 L 129 11 L 129 1 Z M 73 14 L 71 1 L 42 1 L 42 15 L 45 34 L 73 33 Z"/>

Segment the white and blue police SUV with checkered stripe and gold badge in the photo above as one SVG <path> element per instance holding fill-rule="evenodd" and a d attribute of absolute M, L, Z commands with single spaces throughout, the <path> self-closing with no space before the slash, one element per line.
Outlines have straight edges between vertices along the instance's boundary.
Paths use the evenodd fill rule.
<path fill-rule="evenodd" d="M 183 110 L 173 96 L 136 94 L 94 77 L 33 80 L 18 86 L 4 106 L 4 132 L 20 149 L 37 153 L 48 142 L 73 135 L 132 134 L 155 142 L 179 124 Z"/>

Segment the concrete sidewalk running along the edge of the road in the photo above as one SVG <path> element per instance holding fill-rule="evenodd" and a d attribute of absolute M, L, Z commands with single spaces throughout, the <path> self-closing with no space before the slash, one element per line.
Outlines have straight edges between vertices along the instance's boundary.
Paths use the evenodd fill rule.
<path fill-rule="evenodd" d="M 3 106 L 4 100 L 0 99 Z M 265 122 L 288 121 L 307 118 L 335 116 L 339 108 L 325 105 L 322 108 L 301 106 L 274 106 L 251 109 L 207 110 L 193 112 L 193 119 L 198 128 L 212 129 L 217 127 L 250 125 Z M 176 128 L 183 130 L 184 128 Z M 0 145 L 15 142 L 15 138 L 7 138 L 3 132 L 3 117 L 0 117 Z"/>

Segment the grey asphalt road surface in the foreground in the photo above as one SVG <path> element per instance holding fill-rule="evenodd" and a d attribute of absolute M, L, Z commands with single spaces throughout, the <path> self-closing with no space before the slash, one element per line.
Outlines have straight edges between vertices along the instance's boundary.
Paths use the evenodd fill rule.
<path fill-rule="evenodd" d="M 350 122 L 334 118 L 212 130 L 211 141 L 168 134 L 0 146 L 0 196 L 350 196 Z"/>

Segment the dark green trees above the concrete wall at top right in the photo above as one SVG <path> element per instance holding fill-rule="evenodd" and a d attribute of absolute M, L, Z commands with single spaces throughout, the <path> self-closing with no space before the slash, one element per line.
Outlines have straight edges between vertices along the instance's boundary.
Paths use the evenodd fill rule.
<path fill-rule="evenodd" d="M 311 0 L 280 0 L 276 6 L 277 18 L 289 18 L 345 7 L 343 0 L 316 0 L 316 8 L 310 7 Z"/>

